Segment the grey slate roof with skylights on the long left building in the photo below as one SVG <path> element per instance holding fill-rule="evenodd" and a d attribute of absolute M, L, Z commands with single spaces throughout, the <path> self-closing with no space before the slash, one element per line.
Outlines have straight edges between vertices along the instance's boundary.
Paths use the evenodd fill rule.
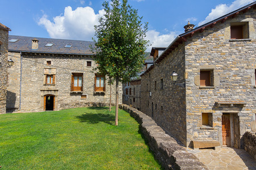
<path fill-rule="evenodd" d="M 56 53 L 56 54 L 86 54 L 93 55 L 90 46 L 94 46 L 93 41 L 48 39 L 40 37 L 27 37 L 9 35 L 9 40 L 17 39 L 16 42 L 9 42 L 9 51 L 14 52 L 36 52 L 36 53 Z M 32 39 L 37 39 L 38 49 L 32 49 Z M 53 43 L 52 46 L 45 46 L 47 43 Z M 72 45 L 71 48 L 65 48 L 65 45 Z"/>

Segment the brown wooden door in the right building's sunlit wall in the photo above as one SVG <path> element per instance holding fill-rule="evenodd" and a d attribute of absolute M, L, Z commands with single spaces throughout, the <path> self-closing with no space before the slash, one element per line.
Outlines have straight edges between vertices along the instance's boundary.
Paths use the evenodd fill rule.
<path fill-rule="evenodd" d="M 222 114 L 222 145 L 230 146 L 230 114 Z"/>

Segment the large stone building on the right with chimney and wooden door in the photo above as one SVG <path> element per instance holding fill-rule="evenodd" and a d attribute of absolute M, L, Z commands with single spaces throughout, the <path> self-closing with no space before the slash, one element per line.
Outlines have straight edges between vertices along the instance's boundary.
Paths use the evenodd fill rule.
<path fill-rule="evenodd" d="M 142 112 L 184 146 L 243 148 L 255 130 L 255 8 L 188 23 L 141 75 Z"/>

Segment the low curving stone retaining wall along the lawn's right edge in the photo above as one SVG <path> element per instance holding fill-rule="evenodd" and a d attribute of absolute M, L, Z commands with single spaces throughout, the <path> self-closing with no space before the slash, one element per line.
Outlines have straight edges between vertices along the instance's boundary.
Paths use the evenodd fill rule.
<path fill-rule="evenodd" d="M 144 138 L 163 168 L 208 169 L 195 155 L 188 153 L 183 146 L 178 145 L 176 140 L 166 134 L 151 117 L 125 104 L 119 105 L 119 108 L 129 112 L 131 117 L 134 117 L 140 124 Z"/>

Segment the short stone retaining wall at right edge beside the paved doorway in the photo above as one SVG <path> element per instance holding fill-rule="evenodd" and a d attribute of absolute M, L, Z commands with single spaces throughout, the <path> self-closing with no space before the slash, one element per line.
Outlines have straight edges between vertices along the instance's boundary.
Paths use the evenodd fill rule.
<path fill-rule="evenodd" d="M 256 133 L 246 131 L 244 138 L 245 150 L 256 160 Z"/>

